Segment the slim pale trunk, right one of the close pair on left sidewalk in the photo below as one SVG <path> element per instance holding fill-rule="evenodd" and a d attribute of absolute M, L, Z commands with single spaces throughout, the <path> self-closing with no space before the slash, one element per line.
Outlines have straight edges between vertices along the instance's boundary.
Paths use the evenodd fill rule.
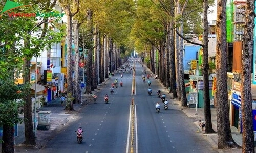
<path fill-rule="evenodd" d="M 74 43 L 75 43 L 75 67 L 74 67 L 74 103 L 81 103 L 81 90 L 80 90 L 80 79 L 79 79 L 79 27 L 80 24 L 77 20 L 73 21 L 74 27 Z"/>

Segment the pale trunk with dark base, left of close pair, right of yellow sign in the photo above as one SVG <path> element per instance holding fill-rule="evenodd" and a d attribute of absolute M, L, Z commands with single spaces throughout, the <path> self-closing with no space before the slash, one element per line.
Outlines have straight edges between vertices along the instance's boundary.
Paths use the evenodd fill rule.
<path fill-rule="evenodd" d="M 72 13 L 70 12 L 70 7 L 63 7 L 67 16 L 67 95 L 73 95 L 73 79 L 72 79 L 72 71 L 73 71 L 73 60 L 72 60 Z M 69 101 L 66 104 L 65 110 L 74 110 L 73 100 Z"/>

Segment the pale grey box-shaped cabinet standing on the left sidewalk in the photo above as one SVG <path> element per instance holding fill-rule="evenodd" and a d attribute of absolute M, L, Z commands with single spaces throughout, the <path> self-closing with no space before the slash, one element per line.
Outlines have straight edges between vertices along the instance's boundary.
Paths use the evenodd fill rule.
<path fill-rule="evenodd" d="M 51 114 L 50 111 L 40 111 L 40 112 L 38 112 L 37 130 L 49 130 L 49 129 L 51 129 L 50 114 Z"/>

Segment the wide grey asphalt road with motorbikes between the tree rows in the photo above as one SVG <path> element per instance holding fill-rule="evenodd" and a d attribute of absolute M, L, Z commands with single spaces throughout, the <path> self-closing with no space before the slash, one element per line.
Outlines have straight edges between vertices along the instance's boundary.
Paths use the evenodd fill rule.
<path fill-rule="evenodd" d="M 77 121 L 63 127 L 38 152 L 131 152 L 132 147 L 133 152 L 215 152 L 196 134 L 194 120 L 175 106 L 169 105 L 169 109 L 164 110 L 163 103 L 160 103 L 160 113 L 156 113 L 155 104 L 161 100 L 156 93 L 158 83 L 151 78 L 153 94 L 148 96 L 148 85 L 141 78 L 144 68 L 135 65 L 135 95 L 131 95 L 132 74 L 124 74 L 123 78 L 119 75 L 112 77 L 111 82 L 118 78 L 118 81 L 123 81 L 123 86 L 115 88 L 114 94 L 110 94 L 111 82 L 102 87 L 97 94 L 97 103 L 84 107 L 78 113 Z M 103 101 L 105 94 L 110 96 L 109 104 Z M 130 116 L 132 99 L 134 118 Z M 134 129 L 131 128 L 133 119 Z M 81 144 L 76 141 L 75 133 L 79 126 L 84 130 Z"/>

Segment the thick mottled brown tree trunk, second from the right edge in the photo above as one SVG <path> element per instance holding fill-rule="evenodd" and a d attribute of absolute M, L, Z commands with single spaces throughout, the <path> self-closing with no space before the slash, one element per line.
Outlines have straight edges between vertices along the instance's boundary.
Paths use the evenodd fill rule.
<path fill-rule="evenodd" d="M 216 46 L 216 102 L 218 148 L 228 149 L 234 145 L 229 122 L 227 97 L 227 43 L 226 43 L 226 1 L 217 2 L 217 46 Z"/>

